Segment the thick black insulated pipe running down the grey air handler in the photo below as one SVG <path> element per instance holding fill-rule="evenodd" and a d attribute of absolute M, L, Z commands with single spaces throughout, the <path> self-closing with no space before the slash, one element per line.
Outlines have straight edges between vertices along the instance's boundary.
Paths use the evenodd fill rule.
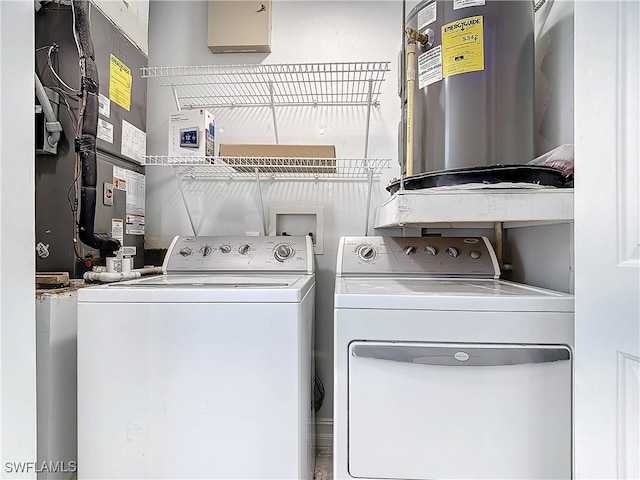
<path fill-rule="evenodd" d="M 94 232 L 96 213 L 96 135 L 98 132 L 98 68 L 95 62 L 89 2 L 73 0 L 73 29 L 80 57 L 82 105 L 78 116 L 80 138 L 76 138 L 76 152 L 81 161 L 80 218 L 78 236 L 85 245 L 100 250 L 103 256 L 113 256 L 120 242 L 108 235 Z"/>

